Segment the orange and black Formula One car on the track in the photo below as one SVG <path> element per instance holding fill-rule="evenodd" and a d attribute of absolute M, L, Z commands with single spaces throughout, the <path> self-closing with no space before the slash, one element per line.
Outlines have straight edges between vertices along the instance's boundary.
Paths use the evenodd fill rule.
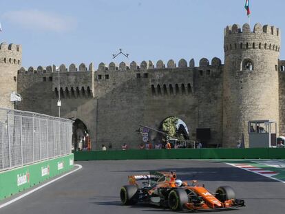
<path fill-rule="evenodd" d="M 125 205 L 138 202 L 169 207 L 172 211 L 213 211 L 244 206 L 244 200 L 235 199 L 230 186 L 220 186 L 209 192 L 196 180 L 189 185 L 176 179 L 176 173 L 150 171 L 149 175 L 130 175 L 129 185 L 120 189 L 120 200 Z M 139 187 L 137 181 L 142 182 Z"/>

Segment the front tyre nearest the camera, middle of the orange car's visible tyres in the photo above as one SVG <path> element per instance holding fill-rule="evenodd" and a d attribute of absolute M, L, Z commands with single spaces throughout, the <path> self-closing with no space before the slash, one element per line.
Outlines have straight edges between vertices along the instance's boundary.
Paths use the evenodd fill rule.
<path fill-rule="evenodd" d="M 168 195 L 168 206 L 171 211 L 181 211 L 188 202 L 188 194 L 184 189 L 173 189 Z"/>

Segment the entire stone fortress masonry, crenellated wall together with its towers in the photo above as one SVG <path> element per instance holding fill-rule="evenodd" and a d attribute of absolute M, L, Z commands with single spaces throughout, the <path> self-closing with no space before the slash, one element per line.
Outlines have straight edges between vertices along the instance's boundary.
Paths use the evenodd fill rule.
<path fill-rule="evenodd" d="M 173 60 L 100 63 L 98 69 L 93 63 L 20 68 L 21 46 L 2 43 L 0 107 L 12 107 L 8 95 L 17 89 L 23 97 L 19 109 L 58 116 L 61 94 L 61 116 L 85 123 L 93 149 L 109 143 L 114 149 L 123 143 L 138 148 L 139 125 L 158 129 L 169 116 L 186 123 L 191 139 L 196 139 L 196 129 L 211 129 L 209 147 L 235 147 L 242 133 L 247 146 L 249 120 L 276 120 L 279 134 L 285 134 L 280 40 L 281 32 L 273 26 L 257 23 L 251 32 L 247 24 L 242 29 L 233 25 L 224 30 L 224 64 L 220 58 L 211 63 L 202 58 L 197 66 L 193 59 L 181 59 L 178 65 Z M 252 70 L 244 69 L 246 62 Z M 154 139 L 156 133 L 150 136 Z"/>

